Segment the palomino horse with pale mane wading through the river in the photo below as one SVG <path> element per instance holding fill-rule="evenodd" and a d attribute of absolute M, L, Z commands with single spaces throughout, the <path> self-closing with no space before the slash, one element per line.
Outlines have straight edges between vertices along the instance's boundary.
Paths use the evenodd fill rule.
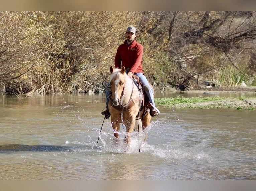
<path fill-rule="evenodd" d="M 119 138 L 120 123 L 125 125 L 127 132 L 125 142 L 128 146 L 136 120 L 141 119 L 144 130 L 150 125 L 151 116 L 143 91 L 140 91 L 134 80 L 125 73 L 125 67 L 113 69 L 111 66 L 110 73 L 111 94 L 108 109 L 111 124 L 116 138 Z"/>

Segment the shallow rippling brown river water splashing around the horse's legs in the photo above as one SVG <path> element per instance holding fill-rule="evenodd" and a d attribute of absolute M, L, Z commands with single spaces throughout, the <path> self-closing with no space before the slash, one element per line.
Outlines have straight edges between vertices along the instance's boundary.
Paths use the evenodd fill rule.
<path fill-rule="evenodd" d="M 0 95 L 0 179 L 256 180 L 256 111 L 159 108 L 124 153 L 104 106 L 101 94 Z"/>

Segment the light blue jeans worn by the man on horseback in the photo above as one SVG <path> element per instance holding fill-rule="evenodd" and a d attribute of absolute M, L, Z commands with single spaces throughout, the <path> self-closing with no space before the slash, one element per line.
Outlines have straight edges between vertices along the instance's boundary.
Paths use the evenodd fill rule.
<path fill-rule="evenodd" d="M 126 71 L 126 72 L 128 72 L 128 71 Z M 134 73 L 134 74 L 139 77 L 140 82 L 143 84 L 144 92 L 148 96 L 149 102 L 152 103 L 153 106 L 155 106 L 154 90 L 153 90 L 153 88 L 150 87 L 147 78 L 144 76 L 144 74 L 142 72 Z M 105 87 L 105 91 L 106 91 L 106 105 L 108 105 L 109 96 L 110 96 L 110 92 L 111 92 L 110 82 L 107 83 L 107 85 Z"/>

